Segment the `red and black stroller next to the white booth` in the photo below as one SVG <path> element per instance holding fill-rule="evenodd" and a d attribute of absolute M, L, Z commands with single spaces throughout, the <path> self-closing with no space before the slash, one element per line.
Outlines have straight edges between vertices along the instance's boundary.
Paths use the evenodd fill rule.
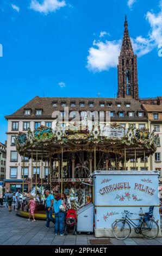
<path fill-rule="evenodd" d="M 67 235 L 67 231 L 69 228 L 73 228 L 72 234 L 77 235 L 77 215 L 76 210 L 74 209 L 67 210 L 64 235 Z"/>

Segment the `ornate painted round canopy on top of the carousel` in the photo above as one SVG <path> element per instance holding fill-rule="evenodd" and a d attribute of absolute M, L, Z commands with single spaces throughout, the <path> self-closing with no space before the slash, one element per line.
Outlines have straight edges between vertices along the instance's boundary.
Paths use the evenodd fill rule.
<path fill-rule="evenodd" d="M 150 133 L 148 129 L 134 129 L 130 125 L 125 129 L 120 124 L 111 123 L 107 126 L 98 126 L 97 123 L 80 123 L 67 127 L 61 127 L 57 124 L 54 129 L 40 126 L 33 132 L 28 129 L 28 132 L 19 132 L 16 136 L 16 149 L 20 155 L 25 155 L 31 158 L 47 159 L 49 155 L 60 154 L 63 148 L 64 152 L 102 151 L 104 153 L 116 153 L 121 157 L 124 156 L 126 148 L 127 160 L 134 158 L 134 149 L 136 149 L 136 157 L 152 155 L 158 145 L 158 135 L 154 131 Z"/>

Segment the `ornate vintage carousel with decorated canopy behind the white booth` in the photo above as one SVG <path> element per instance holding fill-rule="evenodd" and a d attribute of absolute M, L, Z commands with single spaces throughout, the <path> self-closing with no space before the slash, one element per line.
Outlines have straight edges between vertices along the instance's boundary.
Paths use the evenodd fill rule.
<path fill-rule="evenodd" d="M 35 217 L 45 218 L 45 189 L 53 194 L 64 193 L 68 202 L 75 201 L 76 209 L 93 201 L 91 173 L 94 170 L 127 170 L 127 161 L 152 155 L 157 149 L 158 137 L 147 129 L 125 129 L 117 123 L 98 125 L 98 123 L 63 128 L 56 124 L 49 128 L 40 126 L 27 133 L 20 132 L 16 137 L 18 153 L 32 159 L 32 194 L 37 202 Z M 36 173 L 33 174 L 33 161 Z M 38 177 L 38 162 L 41 164 Z M 43 166 L 48 167 L 44 176 Z M 24 167 L 24 166 L 23 166 Z M 146 161 L 145 161 L 145 168 Z M 24 168 L 23 168 L 23 196 Z M 22 203 L 18 214 L 28 217 L 28 210 Z"/>

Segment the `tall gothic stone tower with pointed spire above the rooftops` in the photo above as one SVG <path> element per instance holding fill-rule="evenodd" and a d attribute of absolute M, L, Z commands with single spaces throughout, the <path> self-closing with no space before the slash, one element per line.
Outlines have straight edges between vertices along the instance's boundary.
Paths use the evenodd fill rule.
<path fill-rule="evenodd" d="M 128 32 L 127 16 L 124 22 L 124 36 L 119 56 L 118 70 L 118 97 L 132 97 L 139 99 L 137 56 L 134 54 Z"/>

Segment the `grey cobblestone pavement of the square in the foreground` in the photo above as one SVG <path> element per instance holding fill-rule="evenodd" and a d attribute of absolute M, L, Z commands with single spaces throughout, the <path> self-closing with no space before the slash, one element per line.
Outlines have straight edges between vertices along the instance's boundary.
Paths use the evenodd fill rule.
<path fill-rule="evenodd" d="M 9 212 L 4 207 L 0 208 L 0 245 L 90 245 L 94 234 L 78 234 L 73 236 L 55 236 L 53 224 L 51 228 L 43 229 L 45 221 L 28 222 L 26 218 L 19 217 L 15 211 Z M 103 239 L 103 238 L 102 238 Z M 143 238 L 128 238 L 119 241 L 110 238 L 112 245 L 162 245 L 162 237 L 154 240 Z"/>

